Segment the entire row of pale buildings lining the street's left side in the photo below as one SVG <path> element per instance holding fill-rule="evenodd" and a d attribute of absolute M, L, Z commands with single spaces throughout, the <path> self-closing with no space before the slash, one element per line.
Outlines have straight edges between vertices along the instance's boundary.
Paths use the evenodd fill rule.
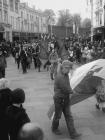
<path fill-rule="evenodd" d="M 0 40 L 27 40 L 48 33 L 47 18 L 20 0 L 0 0 Z"/>

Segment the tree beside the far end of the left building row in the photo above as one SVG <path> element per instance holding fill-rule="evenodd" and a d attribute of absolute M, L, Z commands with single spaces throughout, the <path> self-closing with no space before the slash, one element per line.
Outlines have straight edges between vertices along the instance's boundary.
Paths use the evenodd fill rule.
<path fill-rule="evenodd" d="M 43 13 L 47 16 L 47 23 L 49 25 L 55 23 L 55 13 L 52 9 L 45 9 Z"/>

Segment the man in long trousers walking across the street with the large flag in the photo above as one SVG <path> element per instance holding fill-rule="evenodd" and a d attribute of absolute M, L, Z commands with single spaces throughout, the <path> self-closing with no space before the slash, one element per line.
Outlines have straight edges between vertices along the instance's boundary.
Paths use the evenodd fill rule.
<path fill-rule="evenodd" d="M 74 127 L 73 117 L 70 111 L 70 94 L 73 94 L 73 91 L 70 87 L 69 82 L 69 72 L 72 70 L 73 63 L 64 60 L 61 65 L 61 69 L 57 74 L 54 81 L 54 104 L 55 104 L 55 114 L 52 121 L 52 132 L 59 135 L 61 134 L 58 129 L 59 119 L 63 112 L 67 128 L 69 131 L 70 138 L 78 138 L 81 134 L 76 132 Z"/>

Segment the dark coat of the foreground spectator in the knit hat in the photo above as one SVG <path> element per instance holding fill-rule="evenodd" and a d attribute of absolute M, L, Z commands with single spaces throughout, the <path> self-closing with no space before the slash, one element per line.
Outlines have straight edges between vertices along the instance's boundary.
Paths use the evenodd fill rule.
<path fill-rule="evenodd" d="M 30 122 L 30 119 L 22 106 L 17 107 L 14 105 L 8 107 L 7 118 L 10 140 L 17 140 L 20 128 L 25 123 Z"/>

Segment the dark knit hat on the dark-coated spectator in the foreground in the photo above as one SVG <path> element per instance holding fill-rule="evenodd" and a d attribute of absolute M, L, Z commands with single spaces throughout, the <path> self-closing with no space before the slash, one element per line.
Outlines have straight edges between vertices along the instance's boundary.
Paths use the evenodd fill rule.
<path fill-rule="evenodd" d="M 13 90 L 13 103 L 19 104 L 24 103 L 25 92 L 23 89 L 17 88 Z"/>

